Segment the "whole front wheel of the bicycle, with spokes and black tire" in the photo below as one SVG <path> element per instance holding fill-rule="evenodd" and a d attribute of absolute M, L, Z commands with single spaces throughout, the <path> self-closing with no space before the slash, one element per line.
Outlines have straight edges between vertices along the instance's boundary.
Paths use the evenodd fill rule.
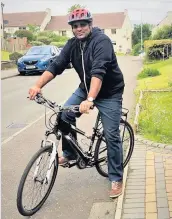
<path fill-rule="evenodd" d="M 21 177 L 19 187 L 18 187 L 18 192 L 17 192 L 17 208 L 20 214 L 22 214 L 23 216 L 31 216 L 35 214 L 42 207 L 42 205 L 48 198 L 53 188 L 53 185 L 54 185 L 54 182 L 57 176 L 57 171 L 58 171 L 58 154 L 56 155 L 55 161 L 53 162 L 53 166 L 51 168 L 49 182 L 48 184 L 44 183 L 44 179 L 46 177 L 48 165 L 50 162 L 52 148 L 53 148 L 52 146 L 46 146 L 46 147 L 41 148 L 32 157 L 32 159 L 26 166 L 24 173 Z M 38 168 L 38 165 L 39 165 L 39 168 Z M 37 174 L 36 176 L 33 176 L 35 174 L 35 171 Z M 29 182 L 27 183 L 28 179 L 29 179 Z M 27 187 L 26 187 L 27 184 L 29 185 L 31 191 L 27 191 Z M 41 186 L 41 189 L 38 188 L 38 186 Z M 25 194 L 25 190 L 27 192 L 26 194 Z M 43 192 L 45 193 L 42 195 Z M 27 198 L 27 195 L 32 196 L 28 200 L 28 203 L 25 200 Z M 41 195 L 41 197 L 34 198 L 33 197 L 34 195 Z"/>

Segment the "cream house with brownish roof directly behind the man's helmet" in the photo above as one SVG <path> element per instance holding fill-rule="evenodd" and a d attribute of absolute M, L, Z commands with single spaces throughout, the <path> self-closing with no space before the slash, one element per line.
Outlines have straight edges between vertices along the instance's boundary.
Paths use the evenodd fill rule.
<path fill-rule="evenodd" d="M 52 16 L 46 26 L 46 30 L 56 32 L 61 36 L 72 37 L 70 25 L 67 23 L 68 16 Z M 93 14 L 93 26 L 101 28 L 112 42 L 115 42 L 117 52 L 127 52 L 132 49 L 132 24 L 128 12 Z"/>

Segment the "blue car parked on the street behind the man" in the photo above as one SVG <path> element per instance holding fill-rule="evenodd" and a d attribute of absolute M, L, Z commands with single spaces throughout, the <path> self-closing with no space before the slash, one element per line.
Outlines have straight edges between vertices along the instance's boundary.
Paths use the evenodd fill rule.
<path fill-rule="evenodd" d="M 18 59 L 17 67 L 21 75 L 43 73 L 60 50 L 53 45 L 33 46 Z"/>

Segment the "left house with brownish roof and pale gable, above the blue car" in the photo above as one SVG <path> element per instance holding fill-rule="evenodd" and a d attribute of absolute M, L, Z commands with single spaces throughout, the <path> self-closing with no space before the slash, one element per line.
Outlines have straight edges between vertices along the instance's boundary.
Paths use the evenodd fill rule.
<path fill-rule="evenodd" d="M 16 30 L 27 29 L 28 24 L 36 25 L 43 31 L 51 20 L 51 10 L 4 14 L 4 31 L 14 34 Z"/>

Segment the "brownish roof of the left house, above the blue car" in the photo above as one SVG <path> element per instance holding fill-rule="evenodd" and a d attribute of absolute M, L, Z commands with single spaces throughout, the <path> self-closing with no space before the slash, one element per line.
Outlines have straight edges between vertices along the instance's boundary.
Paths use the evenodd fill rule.
<path fill-rule="evenodd" d="M 4 23 L 5 27 L 22 27 L 28 24 L 40 26 L 46 16 L 46 11 L 40 12 L 22 12 L 22 13 L 5 13 Z"/>

